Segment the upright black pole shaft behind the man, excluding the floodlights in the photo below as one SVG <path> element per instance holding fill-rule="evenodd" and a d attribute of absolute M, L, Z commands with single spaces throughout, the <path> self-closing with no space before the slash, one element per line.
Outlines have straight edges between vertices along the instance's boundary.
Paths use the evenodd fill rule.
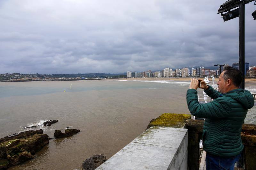
<path fill-rule="evenodd" d="M 239 7 L 239 70 L 242 72 L 241 89 L 244 89 L 244 4 Z"/>

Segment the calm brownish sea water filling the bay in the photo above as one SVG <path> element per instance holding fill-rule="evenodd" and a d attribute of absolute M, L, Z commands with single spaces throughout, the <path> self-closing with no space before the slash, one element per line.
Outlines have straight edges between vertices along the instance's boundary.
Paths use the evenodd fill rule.
<path fill-rule="evenodd" d="M 142 133 L 151 119 L 162 113 L 188 114 L 188 87 L 188 81 L 0 83 L 0 138 L 29 125 L 38 125 L 30 130 L 43 129 L 51 138 L 55 129 L 81 130 L 72 137 L 51 139 L 34 159 L 10 169 L 72 170 L 94 154 L 109 159 Z M 44 127 L 46 120 L 59 122 Z"/>

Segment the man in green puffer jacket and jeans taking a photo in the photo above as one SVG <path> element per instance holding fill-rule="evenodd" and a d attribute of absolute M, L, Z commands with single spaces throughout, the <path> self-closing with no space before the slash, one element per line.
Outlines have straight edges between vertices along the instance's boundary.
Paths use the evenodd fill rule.
<path fill-rule="evenodd" d="M 200 80 L 204 92 L 214 99 L 212 102 L 199 104 L 197 99 Z M 205 118 L 203 146 L 206 151 L 206 169 L 234 169 L 244 145 L 240 133 L 247 110 L 254 105 L 252 94 L 239 88 L 242 74 L 239 70 L 227 66 L 221 72 L 219 91 L 206 85 L 201 79 L 191 79 L 187 91 L 187 103 L 190 113 Z"/>

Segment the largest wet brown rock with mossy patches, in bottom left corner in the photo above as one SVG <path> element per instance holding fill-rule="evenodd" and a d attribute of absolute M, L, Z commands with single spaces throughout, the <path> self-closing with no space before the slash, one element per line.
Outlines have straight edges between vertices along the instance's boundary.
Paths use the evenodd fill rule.
<path fill-rule="evenodd" d="M 28 130 L 0 139 L 0 170 L 34 158 L 34 154 L 48 144 L 43 130 Z"/>

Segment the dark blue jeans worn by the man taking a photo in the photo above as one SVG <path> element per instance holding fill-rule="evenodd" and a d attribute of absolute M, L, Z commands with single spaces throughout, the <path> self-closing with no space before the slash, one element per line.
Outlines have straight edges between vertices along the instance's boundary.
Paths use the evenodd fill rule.
<path fill-rule="evenodd" d="M 234 170 L 235 163 L 239 160 L 241 153 L 233 157 L 219 157 L 206 153 L 206 170 Z"/>

